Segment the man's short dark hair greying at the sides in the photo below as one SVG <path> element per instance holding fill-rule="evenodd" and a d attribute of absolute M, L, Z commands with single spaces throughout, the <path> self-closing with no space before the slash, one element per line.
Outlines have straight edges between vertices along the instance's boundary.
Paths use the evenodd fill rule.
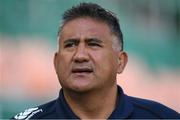
<path fill-rule="evenodd" d="M 67 22 L 81 17 L 90 17 L 105 22 L 110 27 L 111 32 L 117 36 L 121 47 L 120 49 L 123 50 L 123 35 L 118 18 L 111 11 L 104 9 L 95 3 L 80 3 L 79 5 L 66 10 L 62 17 L 62 26 L 60 26 L 58 35 L 60 35 L 61 29 Z"/>

